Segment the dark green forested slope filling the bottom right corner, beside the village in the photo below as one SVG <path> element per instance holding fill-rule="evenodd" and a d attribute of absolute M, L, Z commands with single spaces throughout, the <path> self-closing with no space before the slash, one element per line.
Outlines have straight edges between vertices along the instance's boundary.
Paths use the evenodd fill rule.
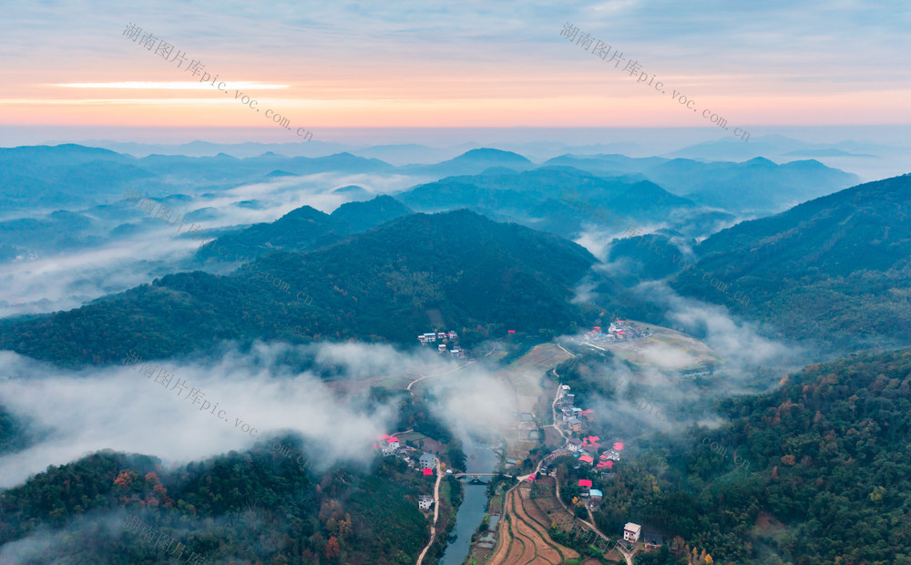
<path fill-rule="evenodd" d="M 599 524 L 645 523 L 717 563 L 911 561 L 911 350 L 810 365 L 722 414 L 731 424 L 652 443 L 607 487 Z"/>

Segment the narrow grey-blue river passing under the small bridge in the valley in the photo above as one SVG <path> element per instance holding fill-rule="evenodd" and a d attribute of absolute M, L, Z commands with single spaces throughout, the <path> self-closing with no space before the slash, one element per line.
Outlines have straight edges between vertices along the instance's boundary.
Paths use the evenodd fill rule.
<path fill-rule="evenodd" d="M 466 441 L 463 448 L 465 449 L 466 457 L 468 457 L 466 472 L 494 472 L 500 458 L 490 447 L 471 444 Z M 489 480 L 490 478 L 481 477 L 480 479 Z M 462 561 L 468 557 L 468 550 L 471 549 L 471 535 L 481 525 L 481 520 L 484 519 L 486 514 L 486 484 L 473 485 L 469 481 L 469 478 L 465 478 L 462 481 L 465 486 L 465 496 L 462 498 L 462 504 L 455 514 L 455 529 L 453 529 L 455 541 L 446 546 L 443 557 L 440 558 L 440 565 L 462 565 Z"/>

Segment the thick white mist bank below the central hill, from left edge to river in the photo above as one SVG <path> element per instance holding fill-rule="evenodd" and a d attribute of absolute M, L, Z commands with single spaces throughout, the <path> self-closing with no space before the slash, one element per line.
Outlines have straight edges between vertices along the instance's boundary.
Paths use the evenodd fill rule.
<path fill-rule="evenodd" d="M 176 467 L 288 432 L 307 440 L 316 469 L 363 464 L 374 457 L 375 437 L 394 431 L 398 419 L 397 400 L 365 409 L 366 391 L 389 379 L 400 379 L 390 386 L 401 390 L 433 375 L 423 381 L 436 398 L 431 408 L 456 429 L 507 430 L 516 409 L 511 388 L 479 365 L 460 369 L 428 348 L 384 344 L 256 342 L 244 351 L 226 344 L 212 359 L 154 361 L 151 376 L 139 365 L 61 370 L 8 351 L 0 364 L 9 375 L 0 404 L 39 437 L 0 457 L 0 488 L 101 449 Z"/>

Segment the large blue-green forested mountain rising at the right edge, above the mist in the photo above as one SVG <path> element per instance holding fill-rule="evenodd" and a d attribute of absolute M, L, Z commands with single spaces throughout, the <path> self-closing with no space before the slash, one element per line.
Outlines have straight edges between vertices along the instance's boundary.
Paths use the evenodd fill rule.
<path fill-rule="evenodd" d="M 703 241 L 693 272 L 750 297 L 728 306 L 783 334 L 858 348 L 911 343 L 911 176 L 878 180 L 744 221 Z M 698 276 L 672 286 L 723 299 Z"/>

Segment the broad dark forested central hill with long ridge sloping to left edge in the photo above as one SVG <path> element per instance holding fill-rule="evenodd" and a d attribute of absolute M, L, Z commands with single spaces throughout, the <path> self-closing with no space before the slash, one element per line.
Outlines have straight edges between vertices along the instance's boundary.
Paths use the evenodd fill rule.
<path fill-rule="evenodd" d="M 5 321 L 0 346 L 87 365 L 223 339 L 411 344 L 431 313 L 467 328 L 468 342 L 507 328 L 563 333 L 581 319 L 572 287 L 593 262 L 571 241 L 469 211 L 413 214 L 319 251 L 272 253 L 253 263 L 256 274 L 172 274 L 77 310 Z"/>

